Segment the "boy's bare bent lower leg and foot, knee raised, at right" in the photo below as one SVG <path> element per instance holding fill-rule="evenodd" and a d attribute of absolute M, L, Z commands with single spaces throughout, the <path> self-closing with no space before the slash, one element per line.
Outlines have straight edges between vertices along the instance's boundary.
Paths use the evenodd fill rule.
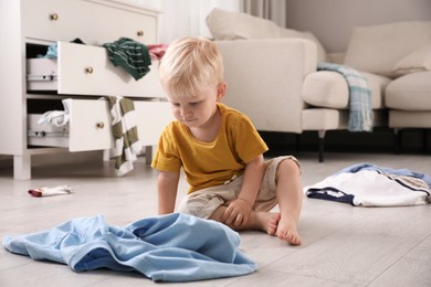
<path fill-rule="evenodd" d="M 291 244 L 299 245 L 297 222 L 303 202 L 301 170 L 295 161 L 285 159 L 277 167 L 276 178 L 276 196 L 281 219 L 275 235 Z"/>

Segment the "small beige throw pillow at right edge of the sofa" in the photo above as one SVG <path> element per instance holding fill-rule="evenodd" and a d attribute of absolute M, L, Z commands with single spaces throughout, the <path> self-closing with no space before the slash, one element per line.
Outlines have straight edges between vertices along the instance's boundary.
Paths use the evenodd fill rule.
<path fill-rule="evenodd" d="M 408 54 L 393 65 L 397 75 L 431 71 L 431 45 L 422 46 Z"/>

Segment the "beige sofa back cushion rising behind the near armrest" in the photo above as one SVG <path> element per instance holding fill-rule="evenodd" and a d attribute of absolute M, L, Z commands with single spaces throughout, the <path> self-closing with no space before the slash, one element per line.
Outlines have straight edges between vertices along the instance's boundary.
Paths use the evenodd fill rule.
<path fill-rule="evenodd" d="M 207 25 L 214 40 L 301 38 L 317 45 L 317 60 L 326 61 L 326 51 L 311 32 L 281 28 L 270 20 L 241 12 L 214 8 L 207 17 Z"/>

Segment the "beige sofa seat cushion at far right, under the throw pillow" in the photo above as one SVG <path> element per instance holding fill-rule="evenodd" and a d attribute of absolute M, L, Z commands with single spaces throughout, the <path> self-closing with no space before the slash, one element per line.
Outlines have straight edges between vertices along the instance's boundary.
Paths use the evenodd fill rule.
<path fill-rule="evenodd" d="M 419 72 L 392 81 L 386 89 L 386 106 L 402 110 L 431 110 L 431 72 Z"/>

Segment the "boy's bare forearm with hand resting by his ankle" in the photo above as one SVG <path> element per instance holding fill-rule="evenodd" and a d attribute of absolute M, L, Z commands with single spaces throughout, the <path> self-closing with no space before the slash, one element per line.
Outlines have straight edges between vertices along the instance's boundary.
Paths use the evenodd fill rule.
<path fill-rule="evenodd" d="M 233 225 L 249 222 L 250 213 L 262 184 L 264 169 L 263 155 L 246 163 L 241 191 L 238 198 L 227 208 L 221 222 Z"/>

